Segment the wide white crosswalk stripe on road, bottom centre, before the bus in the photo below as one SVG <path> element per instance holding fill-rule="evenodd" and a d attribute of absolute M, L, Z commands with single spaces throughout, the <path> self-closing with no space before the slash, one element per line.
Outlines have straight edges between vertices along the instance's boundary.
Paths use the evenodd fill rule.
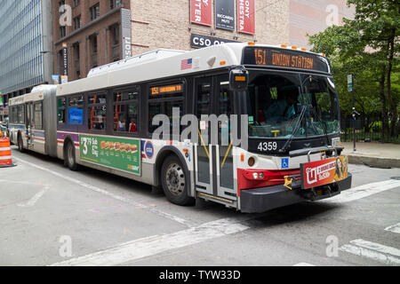
<path fill-rule="evenodd" d="M 184 248 L 190 245 L 220 238 L 249 229 L 239 224 L 243 218 L 224 218 L 198 225 L 177 233 L 150 236 L 125 242 L 90 255 L 69 259 L 51 266 L 110 266 L 137 261 L 143 257 L 154 256 L 164 251 Z"/>

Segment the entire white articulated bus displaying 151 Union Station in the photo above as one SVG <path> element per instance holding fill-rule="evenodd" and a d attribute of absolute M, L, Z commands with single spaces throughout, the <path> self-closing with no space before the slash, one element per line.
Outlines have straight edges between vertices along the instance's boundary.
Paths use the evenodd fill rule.
<path fill-rule="evenodd" d="M 351 186 L 329 61 L 294 47 L 151 51 L 10 99 L 10 117 L 21 151 L 163 188 L 179 205 L 263 212 Z"/>

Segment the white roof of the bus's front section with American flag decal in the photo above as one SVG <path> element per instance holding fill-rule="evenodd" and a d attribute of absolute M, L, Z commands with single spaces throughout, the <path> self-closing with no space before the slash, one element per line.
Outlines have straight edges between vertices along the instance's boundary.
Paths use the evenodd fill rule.
<path fill-rule="evenodd" d="M 238 66 L 242 63 L 244 48 L 248 46 L 288 50 L 265 44 L 224 43 L 195 51 L 150 51 L 93 68 L 86 78 L 58 85 L 57 96 Z M 316 54 L 310 51 L 300 52 Z"/>

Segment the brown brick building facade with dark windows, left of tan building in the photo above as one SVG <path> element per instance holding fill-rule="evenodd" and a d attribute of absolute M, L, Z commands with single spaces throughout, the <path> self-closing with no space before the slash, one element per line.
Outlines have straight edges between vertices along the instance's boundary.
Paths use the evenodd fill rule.
<path fill-rule="evenodd" d="M 92 67 L 122 59 L 126 12 L 129 21 L 129 0 L 53 0 L 53 74 L 74 81 Z"/>

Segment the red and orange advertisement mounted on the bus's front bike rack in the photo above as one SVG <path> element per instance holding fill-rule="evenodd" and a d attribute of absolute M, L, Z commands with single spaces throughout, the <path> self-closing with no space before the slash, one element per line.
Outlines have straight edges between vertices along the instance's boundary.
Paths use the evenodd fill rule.
<path fill-rule="evenodd" d="M 300 164 L 301 188 L 328 185 L 348 177 L 348 157 L 339 156 Z"/>

